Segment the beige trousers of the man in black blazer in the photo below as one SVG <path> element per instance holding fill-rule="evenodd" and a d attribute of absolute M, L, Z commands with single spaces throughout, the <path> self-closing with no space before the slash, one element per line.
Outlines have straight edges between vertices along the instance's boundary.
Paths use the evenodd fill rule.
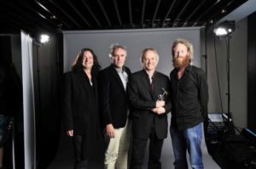
<path fill-rule="evenodd" d="M 125 127 L 116 128 L 115 137 L 110 138 L 105 152 L 105 169 L 127 169 L 128 150 L 130 146 L 131 125 L 126 122 Z"/>

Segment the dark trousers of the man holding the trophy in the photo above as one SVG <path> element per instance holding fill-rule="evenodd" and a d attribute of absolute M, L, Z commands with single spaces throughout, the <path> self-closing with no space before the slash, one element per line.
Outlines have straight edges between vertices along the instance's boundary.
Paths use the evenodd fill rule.
<path fill-rule="evenodd" d="M 143 168 L 143 160 L 145 155 L 145 149 L 148 143 L 148 138 L 134 137 L 132 140 L 131 151 L 131 167 L 130 169 Z M 148 157 L 148 169 L 160 169 L 160 157 L 164 140 L 159 139 L 156 136 L 155 128 L 152 127 L 149 135 L 149 157 Z"/>

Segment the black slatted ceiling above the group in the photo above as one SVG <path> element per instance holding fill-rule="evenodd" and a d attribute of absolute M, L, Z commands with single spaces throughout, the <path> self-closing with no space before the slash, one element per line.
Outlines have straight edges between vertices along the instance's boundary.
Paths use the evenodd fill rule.
<path fill-rule="evenodd" d="M 1 0 L 0 32 L 205 26 L 247 0 Z"/>

